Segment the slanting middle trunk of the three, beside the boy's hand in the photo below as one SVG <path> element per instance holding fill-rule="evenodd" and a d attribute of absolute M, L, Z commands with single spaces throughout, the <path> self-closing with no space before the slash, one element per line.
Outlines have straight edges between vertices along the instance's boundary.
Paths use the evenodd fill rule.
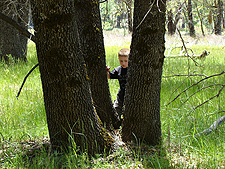
<path fill-rule="evenodd" d="M 98 3 L 83 0 L 75 6 L 82 52 L 90 79 L 95 109 L 106 127 L 119 127 L 106 76 L 105 49 Z"/>

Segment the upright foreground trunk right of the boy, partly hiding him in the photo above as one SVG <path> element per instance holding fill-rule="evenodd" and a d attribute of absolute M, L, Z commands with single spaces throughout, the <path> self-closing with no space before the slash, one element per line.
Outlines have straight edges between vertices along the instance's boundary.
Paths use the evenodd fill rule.
<path fill-rule="evenodd" d="M 151 11 L 149 4 L 153 4 Z M 166 1 L 135 0 L 122 125 L 123 141 L 156 145 L 161 140 L 160 91 L 165 51 Z M 146 16 L 143 22 L 142 19 Z"/>

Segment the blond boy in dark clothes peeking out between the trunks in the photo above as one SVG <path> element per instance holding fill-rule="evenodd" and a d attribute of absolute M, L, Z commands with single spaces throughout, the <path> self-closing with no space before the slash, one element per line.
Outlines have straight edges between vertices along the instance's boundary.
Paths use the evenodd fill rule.
<path fill-rule="evenodd" d="M 121 49 L 118 52 L 118 59 L 120 62 L 120 66 L 110 71 L 110 67 L 106 66 L 107 70 L 107 78 L 108 79 L 118 79 L 120 84 L 120 89 L 118 91 L 116 100 L 114 101 L 114 108 L 116 109 L 120 119 L 122 116 L 122 108 L 124 102 L 125 88 L 126 88 L 126 79 L 127 79 L 127 67 L 128 67 L 128 59 L 129 59 L 130 50 L 129 49 Z"/>

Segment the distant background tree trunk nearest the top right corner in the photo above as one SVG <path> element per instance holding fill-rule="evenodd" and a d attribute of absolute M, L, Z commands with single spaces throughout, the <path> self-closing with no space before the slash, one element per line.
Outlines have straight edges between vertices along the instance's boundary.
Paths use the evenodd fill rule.
<path fill-rule="evenodd" d="M 223 15 L 223 2 L 218 0 L 217 3 L 215 1 L 215 5 L 217 6 L 216 9 L 216 16 L 214 17 L 214 30 L 216 35 L 221 35 L 222 29 L 222 15 Z"/>

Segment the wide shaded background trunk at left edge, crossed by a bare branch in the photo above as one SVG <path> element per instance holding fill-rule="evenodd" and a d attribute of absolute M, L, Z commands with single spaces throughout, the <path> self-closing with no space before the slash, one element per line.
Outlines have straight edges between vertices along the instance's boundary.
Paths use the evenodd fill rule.
<path fill-rule="evenodd" d="M 13 18 L 27 29 L 28 3 L 26 0 L 18 0 L 18 2 L 2 0 L 0 1 L 0 12 L 7 14 L 7 16 Z M 0 60 L 4 59 L 8 62 L 8 55 L 11 54 L 15 60 L 22 59 L 27 61 L 27 38 L 22 36 L 13 26 L 2 20 L 0 20 L 0 25 Z"/>

